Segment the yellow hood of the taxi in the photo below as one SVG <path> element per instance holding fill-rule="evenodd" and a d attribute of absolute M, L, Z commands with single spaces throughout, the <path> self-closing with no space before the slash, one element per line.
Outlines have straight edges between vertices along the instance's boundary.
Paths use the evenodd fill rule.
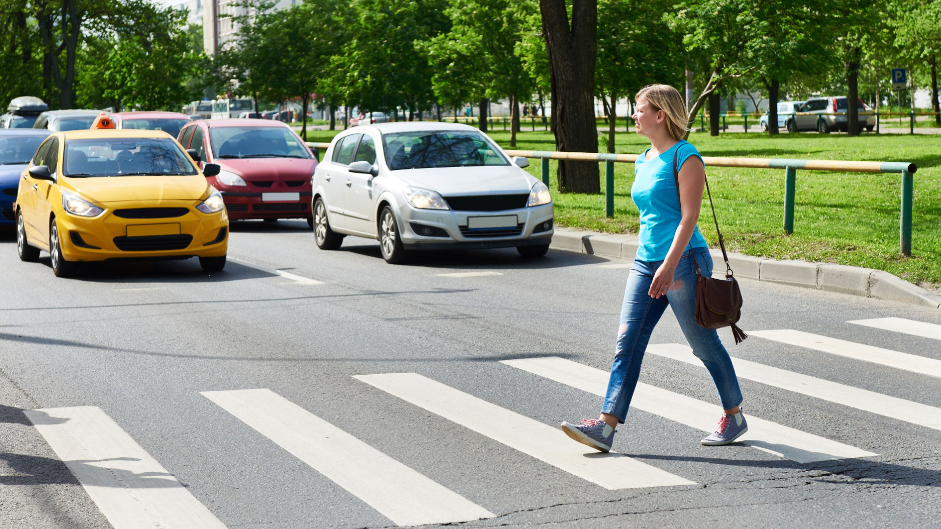
<path fill-rule="evenodd" d="M 88 200 L 126 202 L 130 200 L 199 200 L 209 184 L 201 174 L 191 176 L 108 176 L 97 178 L 65 177 L 68 184 Z"/>

